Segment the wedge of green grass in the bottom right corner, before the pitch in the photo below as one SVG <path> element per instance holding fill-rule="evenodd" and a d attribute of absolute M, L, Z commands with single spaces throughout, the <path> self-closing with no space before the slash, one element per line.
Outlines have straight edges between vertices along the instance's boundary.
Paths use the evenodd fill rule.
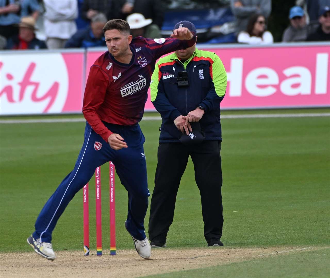
<path fill-rule="evenodd" d="M 281 277 L 329 277 L 330 248 L 311 251 L 297 251 L 294 254 L 277 254 L 240 263 L 222 264 L 185 271 L 168 272 L 145 278 L 281 278 Z M 212 258 L 210 258 L 211 260 Z"/>

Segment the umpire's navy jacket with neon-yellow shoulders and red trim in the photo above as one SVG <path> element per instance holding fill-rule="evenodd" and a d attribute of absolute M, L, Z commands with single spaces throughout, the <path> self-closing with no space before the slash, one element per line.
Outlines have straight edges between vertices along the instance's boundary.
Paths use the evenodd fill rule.
<path fill-rule="evenodd" d="M 189 85 L 178 87 L 178 72 L 186 70 Z M 159 143 L 180 142 L 181 131 L 174 120 L 198 106 L 205 109 L 199 121 L 205 140 L 222 140 L 220 102 L 227 86 L 227 74 L 213 52 L 198 50 L 184 63 L 175 53 L 160 58 L 151 77 L 151 101 L 162 117 Z"/>

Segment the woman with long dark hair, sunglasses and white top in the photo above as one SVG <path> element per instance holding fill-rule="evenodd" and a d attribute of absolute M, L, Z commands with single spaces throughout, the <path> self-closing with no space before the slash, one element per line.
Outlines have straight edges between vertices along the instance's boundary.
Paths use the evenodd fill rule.
<path fill-rule="evenodd" d="M 268 44 L 273 43 L 273 35 L 265 31 L 266 19 L 261 14 L 254 14 L 248 21 L 246 31 L 239 33 L 237 41 L 248 44 Z"/>

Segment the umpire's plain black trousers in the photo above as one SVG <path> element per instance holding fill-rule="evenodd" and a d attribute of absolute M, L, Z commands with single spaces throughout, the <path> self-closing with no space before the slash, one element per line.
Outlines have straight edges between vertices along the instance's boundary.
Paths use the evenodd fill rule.
<path fill-rule="evenodd" d="M 195 181 L 202 200 L 204 236 L 208 240 L 222 235 L 221 200 L 221 142 L 203 141 L 201 144 L 185 146 L 182 143 L 161 143 L 158 147 L 158 163 L 155 188 L 152 192 L 149 218 L 149 239 L 158 236 L 166 240 L 173 222 L 175 201 L 180 180 L 191 156 L 195 170 Z"/>

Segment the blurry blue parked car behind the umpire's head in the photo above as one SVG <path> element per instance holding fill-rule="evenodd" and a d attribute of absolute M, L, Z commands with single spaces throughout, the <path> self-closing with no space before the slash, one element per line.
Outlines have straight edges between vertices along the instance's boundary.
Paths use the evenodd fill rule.
<path fill-rule="evenodd" d="M 198 43 L 236 42 L 235 16 L 229 0 L 168 0 L 161 35 L 168 37 L 181 20 L 194 23 Z"/>

